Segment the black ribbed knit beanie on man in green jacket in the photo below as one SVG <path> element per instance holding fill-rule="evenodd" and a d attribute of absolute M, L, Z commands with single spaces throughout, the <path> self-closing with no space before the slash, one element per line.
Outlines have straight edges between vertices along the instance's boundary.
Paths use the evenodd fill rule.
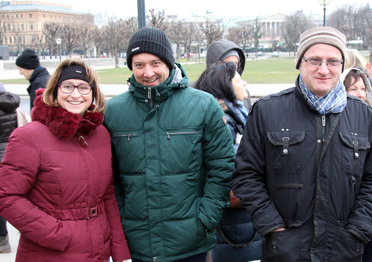
<path fill-rule="evenodd" d="M 172 46 L 161 29 L 145 26 L 131 36 L 126 51 L 126 64 L 130 70 L 132 70 L 132 57 L 141 53 L 156 55 L 166 62 L 169 69 L 174 67 Z"/>

